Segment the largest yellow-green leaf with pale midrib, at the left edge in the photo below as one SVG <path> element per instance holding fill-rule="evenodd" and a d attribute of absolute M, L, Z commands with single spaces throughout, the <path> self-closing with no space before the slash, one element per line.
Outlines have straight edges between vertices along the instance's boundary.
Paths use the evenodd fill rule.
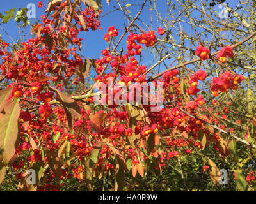
<path fill-rule="evenodd" d="M 7 101 L 0 113 L 0 163 L 6 166 L 20 142 L 19 99 Z"/>

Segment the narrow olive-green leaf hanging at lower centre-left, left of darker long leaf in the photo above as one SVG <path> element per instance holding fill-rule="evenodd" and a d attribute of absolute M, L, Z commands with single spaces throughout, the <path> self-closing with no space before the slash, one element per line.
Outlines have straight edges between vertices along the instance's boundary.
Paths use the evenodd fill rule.
<path fill-rule="evenodd" d="M 87 159 L 84 163 L 84 167 L 86 169 L 85 181 L 90 189 L 92 188 L 92 186 L 91 186 L 92 177 L 93 177 L 94 170 L 95 170 L 98 160 L 99 160 L 101 148 L 102 148 L 102 142 L 95 145 L 93 147 L 93 149 L 91 150 L 90 155 L 87 157 Z"/>

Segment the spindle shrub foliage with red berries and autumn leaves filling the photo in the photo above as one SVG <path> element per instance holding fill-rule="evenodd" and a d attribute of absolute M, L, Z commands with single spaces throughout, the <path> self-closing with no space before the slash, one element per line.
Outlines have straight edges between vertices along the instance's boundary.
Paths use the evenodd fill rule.
<path fill-rule="evenodd" d="M 129 25 L 91 59 L 80 35 L 100 29 L 101 1 L 40 1 L 31 38 L 0 42 L 0 190 L 255 191 L 256 3 L 226 5 L 227 21 L 215 4 L 166 1 L 164 16 L 145 0 L 132 17 L 116 1 Z"/>

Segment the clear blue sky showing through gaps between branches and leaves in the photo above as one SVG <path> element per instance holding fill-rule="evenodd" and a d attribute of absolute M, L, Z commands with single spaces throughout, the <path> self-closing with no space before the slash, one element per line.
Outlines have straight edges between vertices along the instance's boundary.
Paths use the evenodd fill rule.
<path fill-rule="evenodd" d="M 156 0 L 157 1 L 157 10 L 159 11 L 159 13 L 161 13 L 162 18 L 164 18 L 167 14 L 166 11 L 166 1 L 164 0 Z M 207 2 L 210 3 L 211 0 L 208 0 Z M 48 0 L 43 0 L 43 3 L 47 5 Z M 12 0 L 12 1 L 1 1 L 1 7 L 0 7 L 0 12 L 4 14 L 4 11 L 6 10 L 10 10 L 10 8 L 16 8 L 16 10 L 19 10 L 19 8 L 26 8 L 27 5 L 29 3 L 34 3 L 36 5 L 36 20 L 40 20 L 40 16 L 41 15 L 45 15 L 44 9 L 43 8 L 37 8 L 37 3 L 38 0 Z M 140 10 L 141 4 L 143 3 L 143 0 L 126 0 L 125 4 L 131 4 L 132 6 L 129 7 L 129 11 L 131 11 L 131 15 L 132 17 L 134 17 L 136 15 L 136 13 L 138 12 L 138 10 Z M 226 3 L 228 3 L 230 6 L 232 7 L 236 7 L 237 4 L 239 3 L 239 1 L 232 1 L 232 0 L 228 0 L 226 1 Z M 120 0 L 120 4 L 124 5 L 122 3 L 122 1 Z M 200 4 L 200 1 L 196 1 L 196 4 Z M 140 19 L 143 20 L 144 22 L 147 23 L 147 25 L 150 26 L 150 10 L 149 8 L 149 0 L 147 1 L 147 4 L 145 5 L 145 8 L 143 9 L 143 11 L 140 14 Z M 118 5 L 116 4 L 115 0 L 111 0 L 110 5 L 108 6 L 108 4 L 106 4 L 106 0 L 102 0 L 102 15 L 108 13 L 109 11 L 112 11 L 114 8 L 113 6 L 118 7 Z M 214 6 L 214 10 L 220 11 L 221 9 L 218 7 L 219 5 Z M 175 16 L 177 16 L 179 13 L 177 11 L 176 14 L 174 14 Z M 152 19 L 152 27 L 150 27 L 150 29 L 157 31 L 157 27 L 159 26 L 159 22 L 157 22 L 157 18 L 156 15 L 154 15 L 153 12 L 153 19 Z M 195 18 L 197 16 L 195 15 Z M 199 17 L 200 18 L 200 17 Z M 30 19 L 31 20 L 31 24 L 33 22 L 35 22 L 34 19 Z M 106 15 L 102 18 L 100 18 L 100 22 L 101 22 L 101 27 L 102 30 L 97 30 L 97 31 L 89 31 L 87 33 L 82 33 L 80 36 L 82 38 L 84 38 L 83 41 L 83 52 L 80 53 L 83 56 L 86 57 L 100 57 L 101 54 L 101 50 L 103 50 L 104 48 L 108 47 L 106 41 L 103 40 L 103 36 L 105 33 L 107 33 L 107 29 L 109 26 L 113 26 L 115 25 L 115 27 L 117 29 L 122 29 L 124 28 L 124 24 L 127 26 L 129 23 L 127 22 L 127 19 L 124 18 L 124 15 L 121 11 L 113 11 L 112 13 L 110 13 L 109 15 Z M 147 27 L 145 27 L 145 25 L 141 24 L 140 20 L 136 21 L 136 24 L 140 25 L 143 29 L 145 29 L 147 31 Z M 10 36 L 14 39 L 17 40 L 18 38 L 20 38 L 19 36 L 19 30 L 17 29 L 17 25 L 16 22 L 14 22 L 14 20 L 10 20 L 10 22 L 8 22 L 8 24 L 3 24 L 1 25 L 7 32 L 8 34 L 10 34 Z M 28 38 L 31 37 L 30 35 L 30 29 L 31 27 L 27 27 L 26 28 L 26 35 L 27 38 L 26 40 L 28 40 Z M 183 27 L 184 30 L 188 30 L 191 29 L 190 27 Z M 119 36 L 124 32 L 124 30 L 119 30 Z M 193 31 L 191 31 L 193 32 Z M 0 29 L 0 34 L 2 35 L 3 39 L 6 40 L 7 42 L 11 43 L 12 41 L 10 40 L 10 38 L 4 33 L 4 31 L 2 29 Z M 125 39 L 122 41 L 122 43 L 120 43 L 119 47 L 117 48 L 117 51 L 120 51 L 120 48 L 124 48 L 124 50 L 126 50 L 126 43 L 125 43 Z M 194 48 L 195 49 L 195 48 Z M 143 52 L 143 51 L 142 51 Z M 146 51 L 145 51 L 146 52 Z M 152 58 L 154 59 L 154 57 L 146 57 L 145 60 L 143 61 L 144 65 L 149 66 L 150 65 L 150 61 L 152 61 Z M 174 59 L 167 59 L 166 60 L 166 64 L 171 64 L 173 62 Z M 173 64 L 174 65 L 174 64 Z M 161 67 L 161 69 L 163 69 L 163 66 Z"/>

